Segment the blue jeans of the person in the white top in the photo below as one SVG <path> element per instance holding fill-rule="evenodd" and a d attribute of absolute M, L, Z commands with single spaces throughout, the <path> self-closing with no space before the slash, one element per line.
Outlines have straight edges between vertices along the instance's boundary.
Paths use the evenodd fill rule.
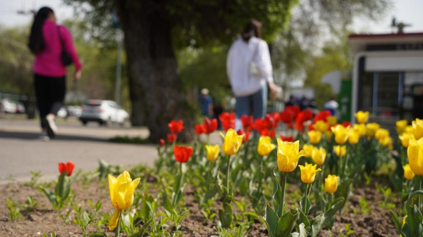
<path fill-rule="evenodd" d="M 254 119 L 262 118 L 266 115 L 267 107 L 267 85 L 264 84 L 262 89 L 250 96 L 236 97 L 235 114 L 236 114 L 236 129 L 240 129 L 243 124 L 240 117 L 243 115 L 252 115 Z"/>

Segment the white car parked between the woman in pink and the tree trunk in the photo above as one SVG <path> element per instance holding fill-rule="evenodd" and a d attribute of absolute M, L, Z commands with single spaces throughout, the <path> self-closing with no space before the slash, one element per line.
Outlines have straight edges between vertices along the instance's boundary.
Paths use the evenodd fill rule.
<path fill-rule="evenodd" d="M 88 100 L 82 106 L 79 117 L 82 124 L 98 122 L 100 125 L 125 124 L 129 120 L 128 113 L 115 101 Z"/>

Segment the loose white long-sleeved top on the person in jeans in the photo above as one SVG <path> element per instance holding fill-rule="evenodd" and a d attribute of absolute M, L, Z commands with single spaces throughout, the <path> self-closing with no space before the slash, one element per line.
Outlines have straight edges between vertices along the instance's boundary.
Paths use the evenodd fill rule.
<path fill-rule="evenodd" d="M 254 62 L 261 76 L 250 75 L 250 62 Z M 226 60 L 226 70 L 235 96 L 250 96 L 273 82 L 269 46 L 266 41 L 252 37 L 248 42 L 238 38 L 233 42 Z"/>

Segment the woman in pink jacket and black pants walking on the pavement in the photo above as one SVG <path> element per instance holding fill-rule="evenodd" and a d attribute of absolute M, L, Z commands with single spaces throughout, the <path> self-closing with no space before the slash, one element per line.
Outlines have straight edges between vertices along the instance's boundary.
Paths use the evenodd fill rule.
<path fill-rule="evenodd" d="M 75 65 L 74 79 L 81 77 L 82 65 L 73 46 L 71 33 L 56 25 L 56 16 L 48 7 L 40 8 L 32 23 L 28 44 L 35 54 L 33 67 L 35 95 L 41 118 L 41 139 L 49 140 L 57 132 L 56 115 L 66 94 L 66 65 Z M 63 60 L 65 52 L 69 62 Z"/>

